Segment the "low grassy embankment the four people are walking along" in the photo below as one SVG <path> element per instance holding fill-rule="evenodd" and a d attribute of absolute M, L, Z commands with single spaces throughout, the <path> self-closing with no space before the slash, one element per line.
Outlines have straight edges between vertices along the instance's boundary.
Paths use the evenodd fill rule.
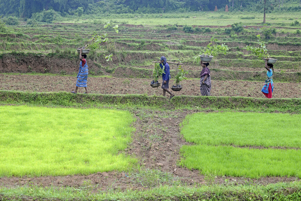
<path fill-rule="evenodd" d="M 162 96 L 143 94 L 103 95 L 29 93 L 21 91 L 0 91 L 1 104 L 28 104 L 63 107 L 121 107 L 153 108 L 158 110 L 197 109 L 301 113 L 300 98 L 249 98 L 249 97 L 203 97 L 176 96 L 169 104 Z"/>

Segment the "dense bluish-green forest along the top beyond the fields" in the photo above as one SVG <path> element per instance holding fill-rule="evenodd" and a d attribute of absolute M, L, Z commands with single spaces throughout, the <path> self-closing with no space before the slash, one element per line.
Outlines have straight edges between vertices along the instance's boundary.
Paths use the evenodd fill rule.
<path fill-rule="evenodd" d="M 301 0 L 266 0 L 268 7 L 284 11 L 301 11 Z M 30 18 L 45 9 L 68 14 L 163 13 L 213 11 L 215 6 L 229 11 L 261 11 L 264 0 L 0 0 L 0 15 Z"/>

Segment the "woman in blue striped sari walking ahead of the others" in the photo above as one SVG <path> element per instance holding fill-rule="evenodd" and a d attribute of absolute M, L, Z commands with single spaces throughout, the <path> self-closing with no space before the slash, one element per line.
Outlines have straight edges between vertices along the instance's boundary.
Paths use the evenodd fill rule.
<path fill-rule="evenodd" d="M 75 88 L 75 91 L 71 91 L 71 93 L 73 93 L 73 94 L 77 93 L 77 89 L 79 87 L 85 87 L 86 92 L 84 94 L 88 94 L 88 90 L 87 90 L 88 65 L 85 60 L 86 57 L 87 57 L 87 55 L 82 54 L 82 49 L 80 49 L 80 53 L 79 53 L 80 64 L 79 64 L 79 71 L 76 76 L 76 78 L 77 78 L 76 88 Z"/>

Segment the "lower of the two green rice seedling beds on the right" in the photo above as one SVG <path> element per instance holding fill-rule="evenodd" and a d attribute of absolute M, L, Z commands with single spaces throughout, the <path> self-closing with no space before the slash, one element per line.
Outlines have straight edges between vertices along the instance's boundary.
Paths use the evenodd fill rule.
<path fill-rule="evenodd" d="M 208 128 L 203 126 L 204 130 Z M 276 140 L 276 139 L 275 139 Z M 250 149 L 231 146 L 184 145 L 179 165 L 204 175 L 259 178 L 301 177 L 301 150 Z"/>

